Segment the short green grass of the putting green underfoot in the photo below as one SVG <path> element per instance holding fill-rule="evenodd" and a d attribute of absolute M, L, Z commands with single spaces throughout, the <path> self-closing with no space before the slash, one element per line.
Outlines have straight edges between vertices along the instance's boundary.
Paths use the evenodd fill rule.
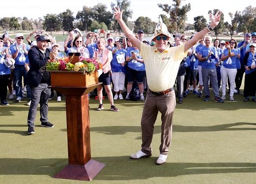
<path fill-rule="evenodd" d="M 213 94 L 212 94 L 213 96 Z M 256 123 L 253 101 L 219 104 L 189 94 L 177 104 L 169 157 L 164 165 L 159 156 L 161 119 L 158 116 L 150 158 L 132 160 L 141 144 L 140 118 L 144 102 L 115 101 L 119 112 L 105 107 L 96 111 L 91 98 L 91 155 L 106 166 L 91 183 L 255 183 Z M 34 135 L 27 135 L 26 101 L 0 107 L 1 183 L 85 183 L 52 178 L 68 164 L 65 98 L 49 101 L 53 129 L 43 128 L 36 117 Z"/>

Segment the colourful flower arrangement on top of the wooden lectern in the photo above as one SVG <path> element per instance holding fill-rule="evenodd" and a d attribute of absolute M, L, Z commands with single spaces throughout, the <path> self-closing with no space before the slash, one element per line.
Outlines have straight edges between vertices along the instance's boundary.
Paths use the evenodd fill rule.
<path fill-rule="evenodd" d="M 102 64 L 96 61 L 94 58 L 79 57 L 79 62 L 72 64 L 67 57 L 56 58 L 47 62 L 47 70 L 59 70 L 59 71 L 82 71 L 83 74 L 91 74 L 93 71 L 102 69 Z"/>

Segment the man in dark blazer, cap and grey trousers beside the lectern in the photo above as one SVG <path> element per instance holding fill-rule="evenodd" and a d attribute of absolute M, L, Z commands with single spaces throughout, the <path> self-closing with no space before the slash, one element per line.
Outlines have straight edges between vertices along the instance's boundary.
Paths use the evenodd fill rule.
<path fill-rule="evenodd" d="M 28 51 L 30 69 L 26 77 L 26 83 L 31 87 L 31 104 L 28 111 L 28 134 L 34 134 L 34 120 L 37 114 L 37 106 L 40 104 L 41 126 L 54 127 L 48 121 L 48 98 L 50 96 L 50 73 L 42 67 L 50 59 L 48 49 L 49 37 L 37 37 L 37 46 Z"/>

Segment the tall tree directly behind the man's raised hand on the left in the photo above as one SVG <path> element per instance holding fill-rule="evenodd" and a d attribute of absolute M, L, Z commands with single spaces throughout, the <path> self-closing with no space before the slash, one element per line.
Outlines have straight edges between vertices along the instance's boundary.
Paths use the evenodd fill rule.
<path fill-rule="evenodd" d="M 115 3 L 111 3 L 110 6 L 111 6 L 111 9 L 113 7 L 119 6 L 120 9 L 124 10 L 122 18 L 123 18 L 125 24 L 127 24 L 128 18 L 132 17 L 132 10 L 130 9 L 131 2 L 129 0 L 116 0 L 116 4 Z M 119 31 L 119 33 L 122 30 L 120 25 L 117 23 L 116 20 L 114 20 L 113 27 L 116 29 L 116 31 Z"/>

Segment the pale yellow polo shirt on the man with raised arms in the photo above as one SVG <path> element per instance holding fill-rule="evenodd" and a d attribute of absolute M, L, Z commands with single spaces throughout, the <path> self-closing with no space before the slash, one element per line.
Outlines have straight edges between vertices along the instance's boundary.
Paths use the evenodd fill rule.
<path fill-rule="evenodd" d="M 187 56 L 187 51 L 184 52 L 182 44 L 160 53 L 156 47 L 141 42 L 140 55 L 144 60 L 149 89 L 161 92 L 174 86 L 181 60 Z"/>

